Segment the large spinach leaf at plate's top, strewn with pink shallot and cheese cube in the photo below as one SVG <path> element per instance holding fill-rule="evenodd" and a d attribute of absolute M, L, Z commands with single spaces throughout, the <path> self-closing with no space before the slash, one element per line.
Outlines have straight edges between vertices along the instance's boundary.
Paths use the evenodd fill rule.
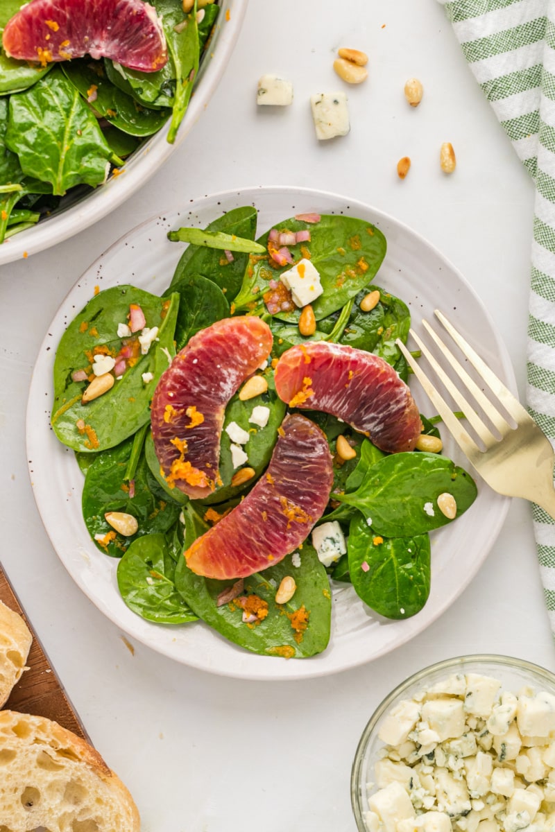
<path fill-rule="evenodd" d="M 382 232 L 355 217 L 322 215 L 315 225 L 290 219 L 275 227 L 290 231 L 310 229 L 310 242 L 292 245 L 290 252 L 295 261 L 310 255 L 311 262 L 320 272 L 324 294 L 312 304 L 316 320 L 342 309 L 369 285 L 384 260 L 386 242 Z M 260 237 L 262 245 L 267 245 L 268 233 Z M 288 269 L 289 265 L 274 268 L 267 258 L 256 261 L 245 273 L 240 293 L 235 298 L 237 309 L 248 308 L 250 304 L 260 305 L 270 280 L 279 280 L 281 272 Z M 300 310 L 295 310 L 278 312 L 275 317 L 296 321 L 299 315 Z"/>

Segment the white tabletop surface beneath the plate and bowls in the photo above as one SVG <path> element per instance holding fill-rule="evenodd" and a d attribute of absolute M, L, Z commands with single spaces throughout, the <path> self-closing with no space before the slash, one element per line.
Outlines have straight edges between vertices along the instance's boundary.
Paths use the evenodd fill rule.
<path fill-rule="evenodd" d="M 308 99 L 341 88 L 332 62 L 342 45 L 369 54 L 369 79 L 347 89 L 349 136 L 319 145 Z M 264 72 L 294 82 L 293 106 L 256 110 Z M 410 76 L 424 83 L 417 110 L 404 102 Z M 450 177 L 439 171 L 443 141 L 458 157 Z M 399 181 L 404 155 L 413 166 Z M 33 362 L 58 305 L 141 220 L 193 196 L 270 184 L 344 193 L 427 237 L 488 305 L 524 390 L 533 187 L 434 0 L 251 0 L 224 82 L 160 174 L 76 239 L 0 268 L 2 562 L 93 742 L 135 796 L 145 832 L 349 832 L 359 735 L 405 676 L 468 652 L 555 670 L 522 501 L 448 612 L 388 656 L 325 679 L 240 681 L 140 644 L 131 654 L 58 561 L 33 503 L 24 436 Z"/>

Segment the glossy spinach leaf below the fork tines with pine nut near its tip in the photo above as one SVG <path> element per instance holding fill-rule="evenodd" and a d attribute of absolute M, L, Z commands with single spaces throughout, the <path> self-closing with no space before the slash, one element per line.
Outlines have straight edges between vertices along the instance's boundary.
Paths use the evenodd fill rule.
<path fill-rule="evenodd" d="M 457 517 L 476 499 L 470 475 L 436 453 L 392 453 L 371 466 L 359 488 L 337 494 L 358 508 L 383 537 L 414 537 L 452 522 L 439 511 L 439 494 L 453 495 Z"/>

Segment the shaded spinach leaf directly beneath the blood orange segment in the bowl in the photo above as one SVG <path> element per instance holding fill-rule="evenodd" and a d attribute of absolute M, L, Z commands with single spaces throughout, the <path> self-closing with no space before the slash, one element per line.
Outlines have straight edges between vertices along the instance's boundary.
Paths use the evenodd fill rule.
<path fill-rule="evenodd" d="M 139 104 L 115 87 L 102 72 L 102 63 L 81 58 L 62 63 L 62 71 L 72 85 L 87 99 L 94 94 L 93 108 L 110 124 L 131 136 L 151 136 L 163 126 L 169 110 L 154 110 Z"/>

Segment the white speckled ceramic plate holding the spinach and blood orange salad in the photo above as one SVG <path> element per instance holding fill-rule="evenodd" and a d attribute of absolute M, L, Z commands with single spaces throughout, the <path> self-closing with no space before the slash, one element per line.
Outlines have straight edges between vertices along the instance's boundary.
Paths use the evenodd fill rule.
<path fill-rule="evenodd" d="M 508 387 L 516 390 L 507 351 L 488 312 L 463 276 L 426 240 L 381 211 L 344 196 L 260 186 L 206 196 L 191 201 L 180 213 L 154 217 L 87 269 L 48 327 L 37 357 L 27 406 L 27 459 L 42 522 L 62 563 L 92 602 L 128 635 L 176 661 L 225 676 L 268 680 L 325 676 L 383 656 L 439 617 L 478 572 L 503 523 L 508 498 L 493 493 L 477 478 L 478 499 L 472 508 L 457 522 L 433 532 L 432 590 L 418 615 L 385 622 L 364 607 L 351 587 L 336 587 L 332 636 L 324 653 L 304 660 L 255 656 L 201 622 L 156 625 L 125 606 L 116 587 L 116 561 L 97 550 L 82 521 L 82 474 L 72 451 L 58 443 L 49 423 L 57 343 L 95 286 L 107 289 L 131 283 L 154 293 L 163 291 L 184 247 L 170 243 L 167 230 L 179 225 L 204 227 L 225 210 L 242 205 L 259 210 L 260 233 L 278 220 L 311 210 L 359 216 L 378 225 L 387 238 L 388 254 L 375 282 L 410 305 L 414 329 L 419 330 L 420 319 L 429 318 L 434 308 L 443 310 Z M 420 409 L 432 414 L 416 382 L 412 388 Z M 445 433 L 444 440 L 448 456 L 468 467 Z"/>

